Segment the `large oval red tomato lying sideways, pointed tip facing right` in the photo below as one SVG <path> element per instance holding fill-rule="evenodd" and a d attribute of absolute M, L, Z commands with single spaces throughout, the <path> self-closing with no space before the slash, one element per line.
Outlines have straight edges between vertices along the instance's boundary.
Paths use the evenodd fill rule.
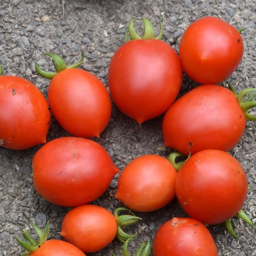
<path fill-rule="evenodd" d="M 70 207 L 97 199 L 119 172 L 100 144 L 77 137 L 57 138 L 43 145 L 32 166 L 38 194 Z"/>

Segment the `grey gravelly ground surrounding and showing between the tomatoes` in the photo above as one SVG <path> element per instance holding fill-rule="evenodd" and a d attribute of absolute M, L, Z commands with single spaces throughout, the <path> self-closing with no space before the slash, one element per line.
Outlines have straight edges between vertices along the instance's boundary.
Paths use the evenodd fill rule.
<path fill-rule="evenodd" d="M 3 75 L 22 76 L 35 83 L 46 95 L 48 82 L 35 72 L 35 61 L 45 70 L 54 71 L 49 57 L 43 52 L 61 55 L 67 64 L 80 60 L 81 48 L 86 60 L 81 68 L 97 75 L 107 86 L 107 72 L 114 52 L 124 43 L 125 28 L 134 17 L 147 17 L 158 32 L 161 16 L 163 40 L 178 51 L 180 36 L 187 26 L 203 16 L 218 16 L 242 32 L 244 58 L 229 81 L 237 90 L 256 86 L 256 0 L 0 0 L 0 63 Z M 180 95 L 195 84 L 184 76 Z M 142 154 L 163 154 L 161 121 L 163 116 L 142 124 L 123 115 L 113 105 L 112 117 L 99 142 L 120 170 Z M 53 119 L 47 140 L 68 135 Z M 248 122 L 246 131 L 231 153 L 244 167 L 251 185 L 244 206 L 256 221 L 256 128 Z M 0 255 L 20 255 L 14 235 L 29 227 L 29 222 L 44 227 L 50 218 L 50 238 L 61 239 L 61 221 L 69 210 L 46 202 L 33 188 L 31 160 L 41 147 L 28 150 L 0 149 Z M 95 204 L 110 211 L 122 206 L 111 195 L 115 193 L 118 175 L 109 189 Z M 228 184 L 227 184 L 228 185 Z M 185 216 L 176 200 L 159 211 L 138 213 L 143 218 L 131 231 L 139 232 L 130 243 L 131 255 L 142 240 L 151 242 L 157 229 L 173 216 Z M 216 241 L 219 256 L 255 256 L 256 232 L 242 221 L 234 220 L 236 240 L 223 227 L 209 227 Z M 100 252 L 89 256 L 121 255 L 121 244 L 114 240 Z"/>

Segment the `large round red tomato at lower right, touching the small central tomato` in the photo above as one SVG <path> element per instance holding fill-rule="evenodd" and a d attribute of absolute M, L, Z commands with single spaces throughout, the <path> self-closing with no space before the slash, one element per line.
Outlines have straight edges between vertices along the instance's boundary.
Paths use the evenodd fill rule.
<path fill-rule="evenodd" d="M 247 178 L 241 164 L 221 150 L 202 150 L 180 168 L 175 190 L 183 210 L 209 225 L 232 218 L 244 205 Z"/>

